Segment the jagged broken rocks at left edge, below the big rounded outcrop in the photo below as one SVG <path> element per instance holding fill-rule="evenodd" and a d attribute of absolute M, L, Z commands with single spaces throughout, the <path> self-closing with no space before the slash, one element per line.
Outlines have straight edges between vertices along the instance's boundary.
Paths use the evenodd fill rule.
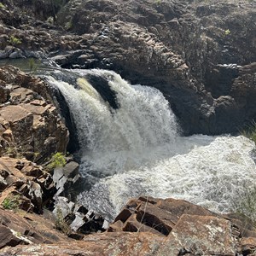
<path fill-rule="evenodd" d="M 0 157 L 0 168 L 0 177 L 3 179 L 0 203 L 17 195 L 16 207 L 28 212 L 42 212 L 43 202 L 55 193 L 49 173 L 28 160 L 9 157 Z"/>

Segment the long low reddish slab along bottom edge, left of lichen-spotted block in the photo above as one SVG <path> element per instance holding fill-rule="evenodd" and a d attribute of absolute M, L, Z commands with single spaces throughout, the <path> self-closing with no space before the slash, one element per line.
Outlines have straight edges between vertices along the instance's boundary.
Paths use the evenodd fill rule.
<path fill-rule="evenodd" d="M 3 248 L 1 253 L 16 256 L 36 255 L 155 255 L 165 242 L 161 236 L 150 233 L 108 233 L 85 236 L 84 241 L 59 242 L 53 245 L 32 245 L 29 247 L 18 246 Z M 156 254 L 157 255 L 157 254 Z M 162 256 L 170 254 L 163 254 Z"/>

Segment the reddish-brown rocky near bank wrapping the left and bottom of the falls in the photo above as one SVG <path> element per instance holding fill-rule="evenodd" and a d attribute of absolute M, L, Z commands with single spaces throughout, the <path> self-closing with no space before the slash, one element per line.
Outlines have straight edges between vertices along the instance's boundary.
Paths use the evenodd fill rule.
<path fill-rule="evenodd" d="M 239 214 L 140 197 L 108 226 L 75 205 L 68 198 L 79 165 L 69 157 L 49 168 L 49 157 L 65 153 L 68 142 L 51 90 L 15 67 L 1 68 L 0 78 L 0 255 L 253 255 L 256 230 Z"/>

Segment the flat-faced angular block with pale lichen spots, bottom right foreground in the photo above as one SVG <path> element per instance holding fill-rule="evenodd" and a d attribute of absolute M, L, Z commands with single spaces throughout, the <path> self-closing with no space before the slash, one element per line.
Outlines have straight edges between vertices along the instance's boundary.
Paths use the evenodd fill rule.
<path fill-rule="evenodd" d="M 235 255 L 236 241 L 231 223 L 224 218 L 183 214 L 168 238 L 201 255 Z"/>

